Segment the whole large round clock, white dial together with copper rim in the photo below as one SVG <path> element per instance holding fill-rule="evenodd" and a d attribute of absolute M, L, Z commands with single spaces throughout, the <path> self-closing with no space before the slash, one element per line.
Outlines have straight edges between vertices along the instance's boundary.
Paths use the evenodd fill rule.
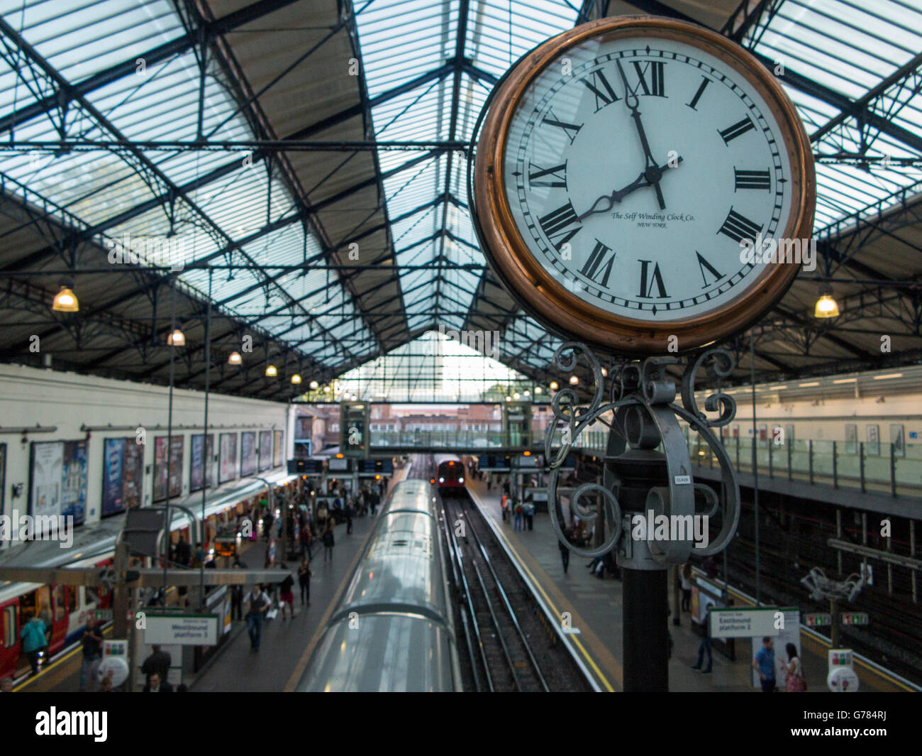
<path fill-rule="evenodd" d="M 673 333 L 684 351 L 793 280 L 799 241 L 780 246 L 786 263 L 760 253 L 795 229 L 809 237 L 812 163 L 805 181 L 802 128 L 725 46 L 614 25 L 518 82 L 495 150 L 502 235 L 557 330 L 629 352 L 667 351 Z M 498 267 L 527 299 L 509 262 Z"/>

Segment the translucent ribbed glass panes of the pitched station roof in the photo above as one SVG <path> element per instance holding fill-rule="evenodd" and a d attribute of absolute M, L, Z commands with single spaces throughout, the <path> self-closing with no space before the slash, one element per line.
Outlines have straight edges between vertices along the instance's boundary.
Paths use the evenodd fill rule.
<path fill-rule="evenodd" d="M 354 14 L 363 83 L 377 102 L 368 125 L 374 137 L 469 141 L 490 82 L 539 42 L 572 28 L 583 5 L 576 0 L 345 4 Z M 797 86 L 785 79 L 785 86 L 821 156 L 816 232 L 840 233 L 856 217 L 904 201 L 905 192 L 917 193 L 922 187 L 922 2 L 765 5 L 763 18 L 743 42 L 799 78 Z M 0 0 L 0 15 L 70 83 L 186 34 L 170 0 Z M 0 118 L 53 94 L 40 68 L 28 65 L 25 55 L 6 42 Z M 237 113 L 237 95 L 227 88 L 225 73 L 216 66 L 210 74 L 203 133 L 216 140 L 254 138 Z M 421 83 L 408 86 L 417 79 Z M 198 82 L 195 54 L 174 54 L 90 90 L 85 104 L 72 102 L 66 134 L 107 141 L 194 139 Z M 855 102 L 867 106 L 867 113 L 861 114 Z M 873 117 L 858 121 L 857 114 L 868 113 Z M 57 140 L 60 118 L 57 109 L 35 115 L 16 126 L 15 137 Z M 308 117 L 304 126 L 309 122 Z M 466 207 L 466 157 L 450 149 L 427 155 L 428 149 L 378 150 L 376 155 L 406 312 L 404 332 L 411 334 L 440 324 L 463 329 L 471 308 L 479 305 L 475 298 L 485 270 Z M 388 174 L 415 158 L 426 159 Z M 901 159 L 915 162 L 901 165 Z M 100 241 L 173 234 L 182 240 L 187 262 L 254 266 L 215 275 L 217 305 L 326 366 L 357 365 L 377 354 L 373 306 L 357 303 L 335 272 L 323 270 L 325 247 L 301 222 L 300 203 L 288 193 L 289 185 L 267 174 L 262 163 L 244 164 L 239 151 L 6 152 L 0 172 L 10 179 L 8 191 L 23 198 L 40 195 L 59 219 L 91 228 Z M 171 189 L 212 173 L 217 177 L 176 199 L 171 217 L 164 201 Z M 266 228 L 270 223 L 275 230 Z M 259 269 L 304 260 L 317 262 L 320 270 Z M 180 282 L 207 292 L 206 271 L 183 270 Z M 393 303 L 384 306 L 395 309 Z M 557 343 L 519 315 L 506 322 L 498 348 L 509 364 L 538 370 L 547 366 Z"/>

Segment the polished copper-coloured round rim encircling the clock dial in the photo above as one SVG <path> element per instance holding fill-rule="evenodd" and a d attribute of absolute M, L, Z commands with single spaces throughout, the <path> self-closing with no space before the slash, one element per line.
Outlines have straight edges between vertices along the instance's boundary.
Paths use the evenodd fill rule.
<path fill-rule="evenodd" d="M 550 330 L 615 354 L 675 352 L 676 348 L 669 348 L 668 337 L 676 336 L 674 346 L 687 352 L 746 330 L 786 293 L 800 266 L 793 262 L 766 266 L 746 291 L 705 315 L 661 323 L 625 318 L 585 302 L 544 270 L 520 234 L 506 198 L 503 158 L 509 128 L 535 78 L 582 42 L 639 36 L 694 45 L 732 67 L 762 96 L 778 123 L 778 136 L 791 165 L 792 208 L 781 235 L 810 238 L 816 203 L 813 153 L 797 110 L 781 85 L 755 57 L 721 34 L 686 21 L 649 16 L 601 18 L 583 24 L 540 44 L 515 66 L 494 93 L 480 133 L 472 214 L 492 269 L 519 304 Z"/>

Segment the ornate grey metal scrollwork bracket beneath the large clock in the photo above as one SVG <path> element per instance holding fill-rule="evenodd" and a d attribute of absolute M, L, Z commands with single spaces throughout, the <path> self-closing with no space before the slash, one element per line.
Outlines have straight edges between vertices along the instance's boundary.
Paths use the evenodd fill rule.
<path fill-rule="evenodd" d="M 588 405 L 580 405 L 575 390 L 567 387 L 559 391 L 551 401 L 554 422 L 545 437 L 545 459 L 551 467 L 548 490 L 551 522 L 561 543 L 580 556 L 597 557 L 619 546 L 623 539 L 632 537 L 622 524 L 629 521 L 624 517 L 615 492 L 595 483 L 578 486 L 567 491 L 567 494 L 575 517 L 585 522 L 595 522 L 596 527 L 602 528 L 602 532 L 597 535 L 597 541 L 601 543 L 593 547 L 575 546 L 561 529 L 565 519 L 557 468 L 580 434 L 601 420 L 609 426 L 606 452 L 609 461 L 619 459 L 628 449 L 662 449 L 666 477 L 662 486 L 654 486 L 648 493 L 646 506 L 649 511 L 657 517 L 665 515 L 670 520 L 678 518 L 685 521 L 690 515 L 692 518 L 703 516 L 707 518 L 704 522 L 708 526 L 712 518 L 720 519 L 720 529 L 714 538 L 710 538 L 708 531 L 707 546 L 694 544 L 688 532 L 681 539 L 647 542 L 649 558 L 655 562 L 653 566 L 680 564 L 689 558 L 692 548 L 699 556 L 721 551 L 736 533 L 739 524 L 739 483 L 727 451 L 711 428 L 726 426 L 736 414 L 736 402 L 719 389 L 719 378 L 727 378 L 733 371 L 732 354 L 723 349 L 711 349 L 690 360 L 680 381 L 682 406 L 675 403 L 676 383 L 667 373 L 668 366 L 680 363 L 676 356 L 649 357 L 643 362 L 628 361 L 614 367 L 609 376 L 607 403 L 602 403 L 605 394 L 602 368 L 596 354 L 585 344 L 561 344 L 554 354 L 553 363 L 561 372 L 572 372 L 581 358 L 588 363 L 594 379 L 592 401 Z M 694 398 L 696 374 L 703 367 L 712 378 L 718 378 L 718 389 L 704 402 L 706 412 L 719 413 L 715 418 L 704 414 Z M 611 413 L 610 422 L 603 418 L 608 413 Z M 719 492 L 712 486 L 692 479 L 688 445 L 680 429 L 679 419 L 685 420 L 696 430 L 714 451 L 721 471 Z M 561 446 L 555 449 L 555 439 L 561 425 Z M 584 499 L 590 495 L 597 498 L 597 503 L 585 503 Z"/>

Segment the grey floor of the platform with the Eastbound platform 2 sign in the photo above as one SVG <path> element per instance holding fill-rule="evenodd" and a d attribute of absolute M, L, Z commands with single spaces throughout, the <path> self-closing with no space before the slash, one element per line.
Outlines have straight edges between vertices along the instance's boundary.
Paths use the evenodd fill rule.
<path fill-rule="evenodd" d="M 557 617 L 570 614 L 570 624 L 578 630 L 574 642 L 585 666 L 592 669 L 602 690 L 623 690 L 621 667 L 621 581 L 599 579 L 587 570 L 588 560 L 571 556 L 563 571 L 561 551 L 547 512 L 535 515 L 534 530 L 515 531 L 513 522 L 502 522 L 502 490 L 487 490 L 486 482 L 467 481 L 467 490 L 479 510 L 491 519 L 496 531 L 517 558 Z M 671 596 L 671 593 L 670 593 Z M 740 606 L 745 602 L 740 600 Z M 670 605 L 671 611 L 671 605 Z M 673 642 L 669 660 L 669 690 L 686 692 L 759 692 L 751 679 L 751 648 L 746 639 L 737 641 L 737 661 L 714 652 L 712 673 L 704 675 L 691 667 L 697 661 L 701 638 L 691 628 L 691 617 L 683 612 L 680 625 L 669 617 Z M 826 646 L 801 633 L 801 654 L 810 690 L 826 690 Z M 775 653 L 778 653 L 776 650 Z M 862 690 L 905 690 L 876 673 L 857 668 Z M 783 685 L 783 681 L 779 680 Z"/>

